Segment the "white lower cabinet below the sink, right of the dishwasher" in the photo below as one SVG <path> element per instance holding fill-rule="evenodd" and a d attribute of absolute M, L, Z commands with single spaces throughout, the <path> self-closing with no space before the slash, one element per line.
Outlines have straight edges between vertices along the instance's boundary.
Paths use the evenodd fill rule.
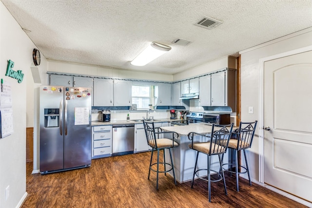
<path fill-rule="evenodd" d="M 166 122 L 167 123 L 167 122 Z M 161 123 L 154 123 L 155 128 L 161 127 Z M 143 124 L 135 124 L 135 152 L 150 151 L 152 148 L 147 144 Z"/>

